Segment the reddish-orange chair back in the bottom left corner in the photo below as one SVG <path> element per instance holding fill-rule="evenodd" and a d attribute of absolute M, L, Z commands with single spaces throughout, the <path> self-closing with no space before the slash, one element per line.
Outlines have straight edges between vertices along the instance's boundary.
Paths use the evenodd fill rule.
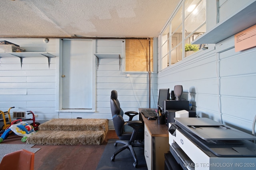
<path fill-rule="evenodd" d="M 33 152 L 22 149 L 4 155 L 1 163 L 1 170 L 34 170 Z"/>

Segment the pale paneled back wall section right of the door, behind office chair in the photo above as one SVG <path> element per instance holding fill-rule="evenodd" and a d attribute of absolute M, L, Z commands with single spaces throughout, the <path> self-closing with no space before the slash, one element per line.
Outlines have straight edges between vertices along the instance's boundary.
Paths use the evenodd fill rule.
<path fill-rule="evenodd" d="M 121 54 L 122 40 L 97 40 L 96 53 Z M 123 62 L 121 61 L 121 64 Z M 99 60 L 96 71 L 96 112 L 112 119 L 110 94 L 118 92 L 118 100 L 124 111 L 138 111 L 139 107 L 148 107 L 148 73 L 124 72 L 119 69 L 119 59 L 104 58 Z M 124 67 L 123 67 L 124 68 Z M 151 107 L 157 102 L 157 74 L 152 74 Z M 154 101 L 155 100 L 155 101 Z M 126 115 L 124 119 L 128 119 Z M 138 119 L 138 117 L 137 117 Z"/>

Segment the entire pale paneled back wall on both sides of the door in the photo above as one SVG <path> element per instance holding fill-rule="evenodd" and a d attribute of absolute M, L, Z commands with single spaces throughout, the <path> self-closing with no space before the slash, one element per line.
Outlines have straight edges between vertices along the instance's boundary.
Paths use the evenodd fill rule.
<path fill-rule="evenodd" d="M 36 121 L 44 122 L 53 118 L 104 118 L 112 119 L 110 111 L 110 92 L 118 91 L 118 99 L 124 111 L 138 111 L 138 107 L 149 106 L 148 73 L 129 72 L 119 69 L 119 59 L 100 59 L 96 64 L 96 111 L 58 112 L 60 68 L 62 65 L 60 51 L 61 40 L 50 39 L 2 39 L 20 45 L 26 52 L 48 52 L 56 57 L 51 58 L 50 67 L 46 57 L 25 57 L 20 63 L 18 57 L 0 58 L 0 109 L 6 111 L 32 110 L 38 115 Z M 95 53 L 121 54 L 122 40 L 96 40 Z M 93 55 L 92 55 L 93 56 Z M 157 74 L 151 78 L 151 107 L 155 108 L 157 94 Z M 27 116 L 29 117 L 29 116 Z M 128 119 L 128 117 L 124 117 Z M 138 117 L 137 117 L 138 119 Z M 111 121 L 110 121 L 111 126 Z"/>

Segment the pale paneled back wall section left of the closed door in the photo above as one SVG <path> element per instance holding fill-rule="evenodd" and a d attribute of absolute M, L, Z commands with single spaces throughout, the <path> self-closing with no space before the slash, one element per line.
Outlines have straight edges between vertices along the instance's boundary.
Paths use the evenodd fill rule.
<path fill-rule="evenodd" d="M 48 52 L 56 57 L 0 58 L 0 109 L 7 111 L 32 110 L 37 121 L 56 118 L 56 62 L 59 56 L 59 39 L 1 39 L 20 45 L 25 52 Z M 27 116 L 27 117 L 30 117 Z"/>

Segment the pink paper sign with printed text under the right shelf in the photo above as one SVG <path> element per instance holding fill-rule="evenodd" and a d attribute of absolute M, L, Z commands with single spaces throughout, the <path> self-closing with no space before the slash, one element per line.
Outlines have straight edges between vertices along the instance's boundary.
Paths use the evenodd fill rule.
<path fill-rule="evenodd" d="M 256 46 L 256 25 L 235 35 L 235 51 L 242 51 Z"/>

